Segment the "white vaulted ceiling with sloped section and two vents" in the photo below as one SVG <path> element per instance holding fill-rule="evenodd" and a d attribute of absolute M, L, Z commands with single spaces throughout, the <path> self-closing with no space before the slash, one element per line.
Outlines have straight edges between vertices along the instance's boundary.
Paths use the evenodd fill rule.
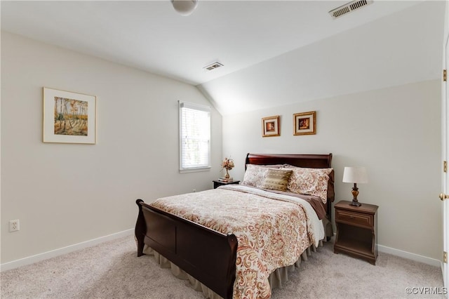
<path fill-rule="evenodd" d="M 440 76 L 445 1 L 328 14 L 345 3 L 1 1 L 1 29 L 198 86 L 222 114 Z"/>

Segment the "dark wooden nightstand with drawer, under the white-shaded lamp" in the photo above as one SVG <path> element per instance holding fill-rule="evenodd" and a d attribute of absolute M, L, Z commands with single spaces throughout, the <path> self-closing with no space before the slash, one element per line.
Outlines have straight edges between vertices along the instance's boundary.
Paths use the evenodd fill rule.
<path fill-rule="evenodd" d="M 375 265 L 377 258 L 377 208 L 373 204 L 351 206 L 351 201 L 335 204 L 337 238 L 334 253 L 347 253 Z"/>

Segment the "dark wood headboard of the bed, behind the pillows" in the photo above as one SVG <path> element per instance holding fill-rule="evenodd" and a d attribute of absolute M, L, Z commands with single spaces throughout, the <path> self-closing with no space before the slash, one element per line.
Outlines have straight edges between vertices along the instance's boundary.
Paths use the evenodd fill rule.
<path fill-rule="evenodd" d="M 332 154 L 250 154 L 246 155 L 245 170 L 247 164 L 274 165 L 290 164 L 307 168 L 331 168 Z M 329 175 L 328 180 L 328 204 L 326 212 L 330 215 L 330 204 L 335 199 L 334 171 Z"/>

